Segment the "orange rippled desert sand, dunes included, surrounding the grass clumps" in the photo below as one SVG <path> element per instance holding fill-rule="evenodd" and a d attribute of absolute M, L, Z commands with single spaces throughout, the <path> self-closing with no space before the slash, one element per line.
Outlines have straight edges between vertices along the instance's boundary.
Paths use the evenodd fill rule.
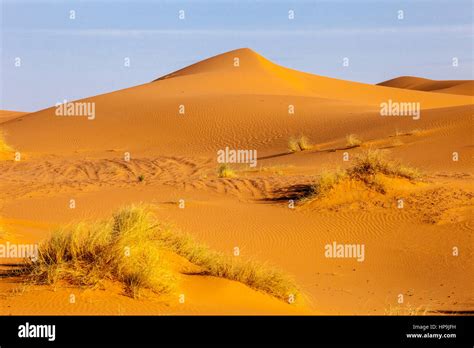
<path fill-rule="evenodd" d="M 400 79 L 337 80 L 238 49 L 81 100 L 95 103 L 94 119 L 59 117 L 51 107 L 0 121 L 12 149 L 0 161 L 3 242 L 37 243 L 60 225 L 143 202 L 214 250 L 231 255 L 238 247 L 239 258 L 284 271 L 303 294 L 286 303 L 237 281 L 182 274 L 183 304 L 175 294 L 132 299 L 115 283 L 25 285 L 5 275 L 0 313 L 472 313 L 472 81 L 420 87 L 421 79 Z M 388 100 L 420 103 L 421 116 L 381 117 Z M 348 146 L 350 134 L 361 142 Z M 300 135 L 312 146 L 291 153 L 288 141 Z M 216 153 L 226 147 L 256 149 L 257 166 L 235 164 L 234 177 L 219 177 Z M 369 149 L 419 169 L 422 179 L 383 177 L 384 193 L 344 181 L 321 199 L 289 207 L 298 187 L 323 171 L 350 168 Z M 365 260 L 325 257 L 333 242 L 364 244 Z M 20 260 L 2 261 L 6 274 Z"/>

